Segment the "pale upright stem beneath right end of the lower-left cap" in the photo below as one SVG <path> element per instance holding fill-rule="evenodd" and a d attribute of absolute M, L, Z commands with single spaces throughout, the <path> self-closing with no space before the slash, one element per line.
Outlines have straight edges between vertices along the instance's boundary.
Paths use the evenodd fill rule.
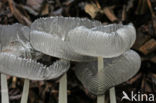
<path fill-rule="evenodd" d="M 59 103 L 67 103 L 67 74 L 66 73 L 60 79 Z"/>

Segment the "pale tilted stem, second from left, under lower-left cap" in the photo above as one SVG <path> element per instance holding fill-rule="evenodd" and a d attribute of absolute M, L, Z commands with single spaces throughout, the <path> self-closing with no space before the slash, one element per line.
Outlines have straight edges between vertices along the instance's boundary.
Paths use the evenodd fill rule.
<path fill-rule="evenodd" d="M 21 103 L 27 103 L 27 101 L 28 101 L 29 82 L 30 81 L 28 79 L 25 79 L 24 80 L 24 88 L 23 88 Z"/>

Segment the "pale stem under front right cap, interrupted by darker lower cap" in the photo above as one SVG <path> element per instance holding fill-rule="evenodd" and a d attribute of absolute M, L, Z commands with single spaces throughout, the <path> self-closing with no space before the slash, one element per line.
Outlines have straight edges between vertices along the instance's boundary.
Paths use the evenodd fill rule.
<path fill-rule="evenodd" d="M 103 71 L 104 64 L 103 64 L 103 58 L 98 57 L 98 72 Z M 97 96 L 97 103 L 105 103 L 105 95 Z"/>

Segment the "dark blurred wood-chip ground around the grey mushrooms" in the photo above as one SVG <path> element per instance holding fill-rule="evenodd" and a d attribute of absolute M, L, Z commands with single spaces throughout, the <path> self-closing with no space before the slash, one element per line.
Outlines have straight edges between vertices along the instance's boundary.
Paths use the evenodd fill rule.
<path fill-rule="evenodd" d="M 155 12 L 156 0 L 0 0 L 0 24 L 18 22 L 29 26 L 35 19 L 49 16 L 85 17 L 103 24 L 133 23 L 137 40 L 132 49 L 141 55 L 142 66 L 133 78 L 116 86 L 118 103 L 122 91 L 156 92 Z M 8 76 L 11 103 L 20 102 L 23 82 Z M 109 101 L 108 92 L 106 100 Z M 31 81 L 28 103 L 57 102 L 58 80 Z M 68 103 L 96 103 L 96 96 L 83 88 L 72 69 L 68 72 Z"/>

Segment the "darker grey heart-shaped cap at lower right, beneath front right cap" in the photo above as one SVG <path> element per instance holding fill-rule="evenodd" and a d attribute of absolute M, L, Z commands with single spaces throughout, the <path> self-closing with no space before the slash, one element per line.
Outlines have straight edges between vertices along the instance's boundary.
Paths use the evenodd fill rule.
<path fill-rule="evenodd" d="M 94 95 L 102 95 L 109 88 L 134 76 L 140 65 L 140 56 L 129 50 L 119 57 L 104 59 L 103 72 L 98 72 L 97 62 L 77 63 L 74 70 L 89 92 Z"/>

